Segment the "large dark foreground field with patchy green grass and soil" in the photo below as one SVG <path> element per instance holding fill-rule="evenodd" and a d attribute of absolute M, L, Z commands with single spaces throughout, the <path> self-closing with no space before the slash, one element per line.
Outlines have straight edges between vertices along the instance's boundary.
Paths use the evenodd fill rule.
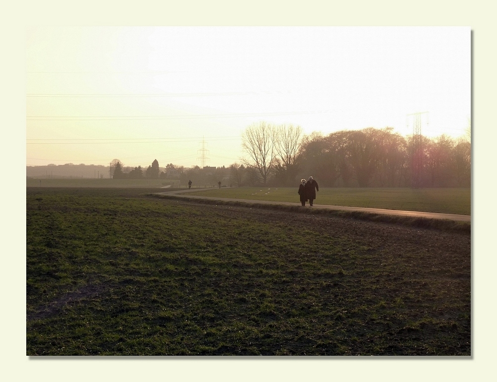
<path fill-rule="evenodd" d="M 470 234 L 153 191 L 27 189 L 27 355 L 471 355 Z"/>

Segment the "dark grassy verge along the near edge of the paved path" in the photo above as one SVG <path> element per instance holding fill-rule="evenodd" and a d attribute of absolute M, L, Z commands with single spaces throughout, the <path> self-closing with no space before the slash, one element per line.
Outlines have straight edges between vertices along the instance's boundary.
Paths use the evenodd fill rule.
<path fill-rule="evenodd" d="M 181 196 L 176 195 L 158 195 L 153 196 L 159 198 L 168 199 L 183 199 Z M 388 223 L 397 224 L 406 227 L 415 227 L 420 229 L 438 229 L 446 232 L 459 232 L 471 234 L 471 223 L 466 222 L 454 222 L 451 220 L 444 219 L 427 219 L 427 218 L 413 218 L 404 216 L 393 216 L 384 214 L 372 214 L 368 212 L 361 211 L 340 211 L 340 210 L 329 210 L 329 209 L 310 209 L 302 208 L 300 206 L 287 206 L 282 204 L 262 204 L 262 203 L 248 203 L 239 201 L 227 201 L 227 200 L 214 200 L 214 199 L 189 199 L 192 203 L 199 204 L 214 204 L 222 206 L 234 206 L 234 207 L 246 207 L 246 208 L 260 208 L 267 210 L 276 211 L 286 211 L 291 213 L 299 214 L 312 214 L 312 215 L 322 215 L 322 216 L 335 216 L 346 219 L 356 219 L 375 223 Z"/>

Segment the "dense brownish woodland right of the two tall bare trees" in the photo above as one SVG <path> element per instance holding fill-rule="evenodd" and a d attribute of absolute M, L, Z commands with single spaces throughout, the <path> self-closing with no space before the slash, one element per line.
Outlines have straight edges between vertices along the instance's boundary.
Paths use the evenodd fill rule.
<path fill-rule="evenodd" d="M 469 139 L 403 137 L 393 129 L 367 128 L 313 134 L 302 140 L 295 168 L 276 165 L 274 179 L 293 183 L 312 175 L 320 185 L 336 187 L 469 187 Z"/>

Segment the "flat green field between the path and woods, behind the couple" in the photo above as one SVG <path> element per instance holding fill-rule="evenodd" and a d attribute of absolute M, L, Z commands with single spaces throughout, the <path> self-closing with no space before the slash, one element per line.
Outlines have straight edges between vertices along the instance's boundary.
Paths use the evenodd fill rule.
<path fill-rule="evenodd" d="M 298 188 L 213 188 L 189 195 L 299 203 Z M 471 215 L 470 188 L 320 188 L 315 205 Z"/>

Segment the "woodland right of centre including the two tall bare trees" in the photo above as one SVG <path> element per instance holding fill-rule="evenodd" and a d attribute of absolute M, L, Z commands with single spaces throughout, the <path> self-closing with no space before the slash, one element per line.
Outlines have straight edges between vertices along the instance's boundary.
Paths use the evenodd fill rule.
<path fill-rule="evenodd" d="M 470 132 L 470 130 L 468 130 Z M 469 187 L 470 137 L 403 137 L 393 128 L 301 137 L 301 128 L 253 124 L 242 135 L 249 159 L 241 184 L 296 185 L 313 176 L 325 187 Z M 244 175 L 245 173 L 245 175 Z"/>

